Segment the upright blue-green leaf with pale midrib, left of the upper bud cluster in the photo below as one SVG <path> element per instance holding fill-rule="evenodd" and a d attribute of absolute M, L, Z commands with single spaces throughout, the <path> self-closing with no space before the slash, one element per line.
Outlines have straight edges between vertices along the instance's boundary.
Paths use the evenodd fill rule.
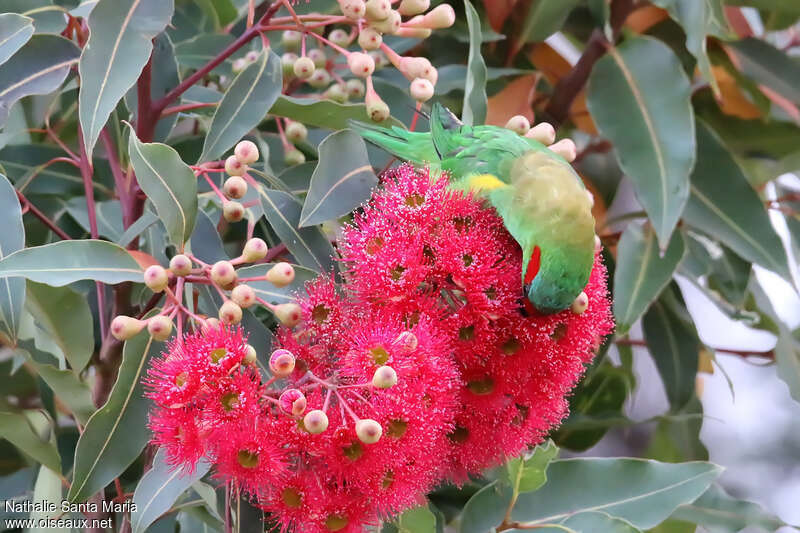
<path fill-rule="evenodd" d="M 264 50 L 234 78 L 211 119 L 200 161 L 219 158 L 258 126 L 283 87 L 281 60 Z"/>

